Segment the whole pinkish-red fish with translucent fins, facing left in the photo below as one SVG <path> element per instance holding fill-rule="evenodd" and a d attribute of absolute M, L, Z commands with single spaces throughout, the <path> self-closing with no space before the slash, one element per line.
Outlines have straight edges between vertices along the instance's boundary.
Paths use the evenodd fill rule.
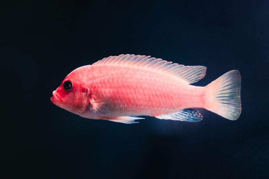
<path fill-rule="evenodd" d="M 241 113 L 238 70 L 206 86 L 206 67 L 185 66 L 145 55 L 121 54 L 73 70 L 52 92 L 58 107 L 89 119 L 137 123 L 138 116 L 197 122 L 204 108 L 226 119 Z"/>

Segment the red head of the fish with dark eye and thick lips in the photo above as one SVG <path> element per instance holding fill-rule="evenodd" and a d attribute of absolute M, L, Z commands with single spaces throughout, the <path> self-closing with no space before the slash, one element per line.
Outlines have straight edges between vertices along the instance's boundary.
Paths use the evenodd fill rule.
<path fill-rule="evenodd" d="M 90 90 L 80 75 L 71 72 L 52 92 L 51 102 L 75 114 L 86 110 Z"/>

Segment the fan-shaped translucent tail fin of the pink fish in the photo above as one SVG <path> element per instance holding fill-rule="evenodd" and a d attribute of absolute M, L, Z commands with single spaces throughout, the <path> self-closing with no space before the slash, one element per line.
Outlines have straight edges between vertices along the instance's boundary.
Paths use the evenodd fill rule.
<path fill-rule="evenodd" d="M 206 109 L 226 119 L 236 120 L 241 113 L 240 74 L 229 71 L 207 85 L 209 101 Z"/>

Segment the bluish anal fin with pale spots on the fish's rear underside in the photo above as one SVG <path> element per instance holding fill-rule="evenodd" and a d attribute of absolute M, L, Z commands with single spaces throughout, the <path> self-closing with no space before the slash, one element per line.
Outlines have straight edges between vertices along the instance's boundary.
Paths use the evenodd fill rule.
<path fill-rule="evenodd" d="M 196 111 L 194 109 L 184 109 L 175 113 L 158 115 L 155 116 L 155 118 L 197 122 L 202 120 L 203 116 L 201 115 L 201 113 L 199 113 L 199 111 Z"/>

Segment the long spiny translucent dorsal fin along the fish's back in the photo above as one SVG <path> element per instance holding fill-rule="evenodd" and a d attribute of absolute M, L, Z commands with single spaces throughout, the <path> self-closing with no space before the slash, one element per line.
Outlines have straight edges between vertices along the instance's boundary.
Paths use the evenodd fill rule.
<path fill-rule="evenodd" d="M 95 62 L 93 65 L 130 65 L 148 68 L 165 74 L 171 74 L 189 84 L 199 81 L 206 75 L 206 67 L 204 66 L 179 65 L 178 63 L 156 59 L 145 55 L 121 54 L 119 56 L 109 56 Z"/>

